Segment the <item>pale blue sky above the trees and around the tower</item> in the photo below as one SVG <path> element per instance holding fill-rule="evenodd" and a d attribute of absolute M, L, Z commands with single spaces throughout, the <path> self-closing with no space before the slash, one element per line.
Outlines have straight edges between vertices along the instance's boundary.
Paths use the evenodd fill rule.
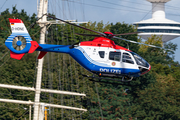
<path fill-rule="evenodd" d="M 0 12 L 12 11 L 16 6 L 20 12 L 24 9 L 28 15 L 37 14 L 37 0 L 0 0 Z M 171 0 L 165 4 L 166 18 L 180 22 L 180 0 Z M 151 3 L 147 0 L 49 0 L 48 13 L 58 18 L 77 20 L 78 22 L 103 21 L 106 23 L 124 22 L 133 24 L 150 19 Z M 175 61 L 180 62 L 180 37 L 171 40 L 178 45 Z"/>

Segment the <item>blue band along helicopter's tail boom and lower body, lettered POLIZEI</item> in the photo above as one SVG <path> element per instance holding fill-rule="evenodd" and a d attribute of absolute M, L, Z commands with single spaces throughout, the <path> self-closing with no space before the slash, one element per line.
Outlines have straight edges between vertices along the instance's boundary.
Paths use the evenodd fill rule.
<path fill-rule="evenodd" d="M 46 51 L 46 52 L 57 52 L 57 53 L 67 53 L 72 58 L 74 58 L 81 66 L 83 66 L 88 71 L 96 72 L 107 72 L 114 73 L 119 75 L 129 75 L 139 76 L 139 69 L 129 69 L 129 68 L 115 68 L 111 67 L 105 63 L 99 63 L 92 60 L 87 53 L 81 47 L 70 49 L 69 45 L 48 45 L 48 44 L 39 44 L 42 49 L 37 49 L 37 51 Z"/>

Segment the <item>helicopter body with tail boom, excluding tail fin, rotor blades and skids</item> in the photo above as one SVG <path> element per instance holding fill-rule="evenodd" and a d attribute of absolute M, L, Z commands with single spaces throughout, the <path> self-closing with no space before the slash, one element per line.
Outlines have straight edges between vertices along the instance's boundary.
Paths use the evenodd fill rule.
<path fill-rule="evenodd" d="M 39 46 L 41 49 L 37 51 L 67 53 L 85 69 L 99 76 L 138 77 L 151 69 L 149 63 L 136 53 L 104 37 L 80 42 L 73 48 L 70 45 Z"/>

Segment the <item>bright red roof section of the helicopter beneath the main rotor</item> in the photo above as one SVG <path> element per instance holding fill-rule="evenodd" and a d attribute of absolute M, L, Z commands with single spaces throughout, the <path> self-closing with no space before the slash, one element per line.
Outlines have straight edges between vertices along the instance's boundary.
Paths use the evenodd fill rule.
<path fill-rule="evenodd" d="M 114 49 L 119 49 L 119 50 L 130 51 L 124 47 L 115 45 L 114 41 L 108 38 L 104 38 L 104 37 L 96 37 L 94 38 L 93 41 L 80 42 L 80 46 L 109 47 L 109 48 L 114 48 Z"/>

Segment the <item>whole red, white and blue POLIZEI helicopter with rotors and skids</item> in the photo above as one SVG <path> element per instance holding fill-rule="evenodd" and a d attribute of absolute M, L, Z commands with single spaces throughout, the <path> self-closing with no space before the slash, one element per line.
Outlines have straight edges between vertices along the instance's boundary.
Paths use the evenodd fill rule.
<path fill-rule="evenodd" d="M 133 77 L 139 77 L 150 71 L 151 65 L 146 60 L 131 50 L 116 45 L 114 41 L 111 40 L 111 38 L 116 38 L 132 43 L 143 44 L 116 37 L 119 35 L 137 33 L 102 33 L 69 23 L 53 16 L 47 16 L 97 33 L 98 35 L 77 33 L 78 35 L 94 36 L 95 38 L 92 41 L 83 41 L 73 45 L 38 44 L 36 41 L 32 41 L 22 20 L 9 18 L 12 34 L 5 41 L 5 45 L 10 50 L 11 58 L 20 60 L 26 53 L 33 53 L 34 51 L 40 51 L 38 59 L 43 58 L 47 52 L 66 53 L 89 72 L 93 73 L 93 76 L 84 75 L 85 77 L 92 79 L 97 78 L 98 80 L 117 80 L 114 78 L 118 78 L 117 81 L 121 82 L 131 81 Z M 144 45 L 157 47 L 148 44 Z"/>

